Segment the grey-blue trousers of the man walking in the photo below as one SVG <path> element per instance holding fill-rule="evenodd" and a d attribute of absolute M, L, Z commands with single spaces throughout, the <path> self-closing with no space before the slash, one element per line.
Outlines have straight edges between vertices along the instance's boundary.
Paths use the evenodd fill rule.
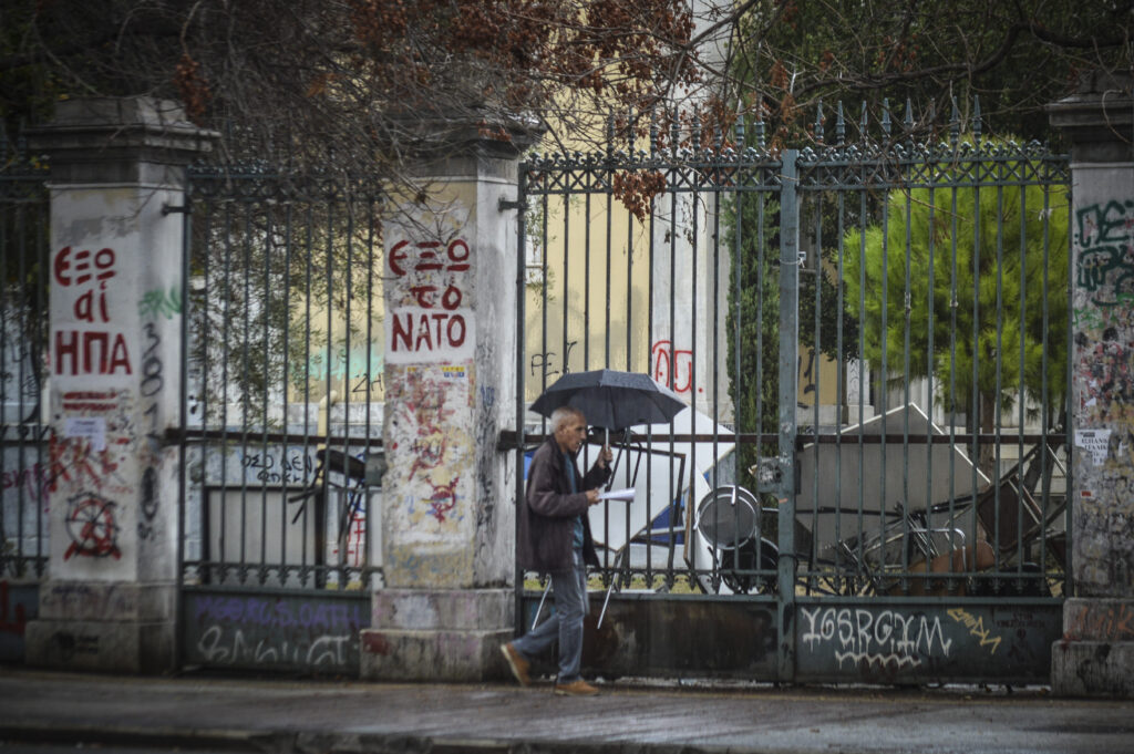
<path fill-rule="evenodd" d="M 527 659 L 547 650 L 559 639 L 559 678 L 557 683 L 578 680 L 583 664 L 583 617 L 589 610 L 586 596 L 586 566 L 583 553 L 574 551 L 575 567 L 551 571 L 551 591 L 555 611 L 531 633 L 513 642 L 513 646 Z"/>

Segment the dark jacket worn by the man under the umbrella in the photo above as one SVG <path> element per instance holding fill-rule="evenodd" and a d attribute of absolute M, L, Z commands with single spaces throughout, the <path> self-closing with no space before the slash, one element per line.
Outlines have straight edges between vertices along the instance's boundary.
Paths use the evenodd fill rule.
<path fill-rule="evenodd" d="M 572 567 L 572 539 L 575 533 L 575 517 L 583 515 L 583 560 L 590 566 L 599 565 L 591 539 L 591 522 L 586 516 L 586 490 L 600 486 L 610 475 L 609 468 L 594 466 L 579 476 L 574 460 L 567 469 L 562 450 L 556 439 L 548 438 L 532 456 L 527 471 L 527 492 L 524 505 L 519 506 L 519 539 L 516 542 L 516 560 L 521 568 L 548 573 Z M 567 474 L 575 475 L 575 489 L 570 492 Z"/>

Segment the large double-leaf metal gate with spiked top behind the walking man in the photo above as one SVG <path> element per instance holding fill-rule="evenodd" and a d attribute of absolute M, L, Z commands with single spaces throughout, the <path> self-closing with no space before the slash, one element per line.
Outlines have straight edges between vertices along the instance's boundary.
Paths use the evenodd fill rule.
<path fill-rule="evenodd" d="M 585 661 L 1047 683 L 1069 573 L 1066 158 L 956 115 L 922 143 L 840 107 L 801 150 L 676 120 L 521 171 L 525 405 L 606 367 L 691 406 L 615 438 L 635 494 L 591 514 Z M 527 414 L 516 452 L 547 432 Z"/>

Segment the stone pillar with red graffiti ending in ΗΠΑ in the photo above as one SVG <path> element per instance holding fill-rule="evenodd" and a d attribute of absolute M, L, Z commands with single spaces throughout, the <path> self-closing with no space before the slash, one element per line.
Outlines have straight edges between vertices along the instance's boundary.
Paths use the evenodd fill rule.
<path fill-rule="evenodd" d="M 211 142 L 152 99 L 61 102 L 51 162 L 50 566 L 33 666 L 175 667 L 184 166 Z"/>

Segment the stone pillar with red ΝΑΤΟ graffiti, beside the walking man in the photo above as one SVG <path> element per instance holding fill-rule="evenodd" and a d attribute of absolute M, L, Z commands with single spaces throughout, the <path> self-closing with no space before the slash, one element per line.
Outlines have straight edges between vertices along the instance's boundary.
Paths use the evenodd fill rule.
<path fill-rule="evenodd" d="M 514 629 L 518 152 L 474 137 L 384 223 L 384 587 L 362 676 L 477 680 Z"/>

